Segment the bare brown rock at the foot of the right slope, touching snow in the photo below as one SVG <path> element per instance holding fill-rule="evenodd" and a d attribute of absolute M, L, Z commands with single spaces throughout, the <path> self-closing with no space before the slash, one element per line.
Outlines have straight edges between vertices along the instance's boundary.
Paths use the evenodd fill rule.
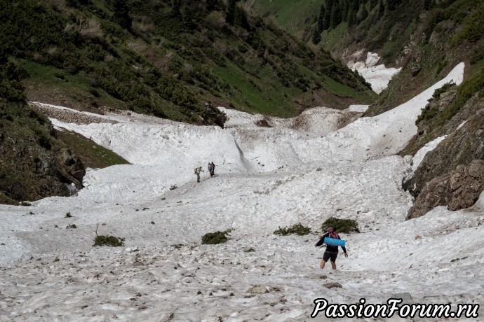
<path fill-rule="evenodd" d="M 484 189 L 484 160 L 473 160 L 469 165 L 457 168 L 427 182 L 419 193 L 407 218 L 417 218 L 437 206 L 449 210 L 471 207 Z"/>

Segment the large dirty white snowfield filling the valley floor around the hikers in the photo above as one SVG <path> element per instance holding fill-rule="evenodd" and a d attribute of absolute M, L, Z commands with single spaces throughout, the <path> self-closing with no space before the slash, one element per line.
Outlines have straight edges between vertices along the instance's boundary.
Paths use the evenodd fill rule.
<path fill-rule="evenodd" d="M 433 90 L 461 83 L 463 71 L 459 64 L 374 118 L 316 108 L 282 120 L 221 108 L 224 130 L 135 113 L 97 116 L 106 123 L 52 119 L 132 165 L 88 169 L 73 197 L 0 205 L 0 321 L 309 321 L 317 297 L 377 304 L 396 293 L 482 302 L 484 197 L 405 221 L 412 198 L 401 180 L 412 160 L 396 155 Z M 206 172 L 196 183 L 199 165 Z M 349 258 L 340 253 L 336 271 L 319 269 L 323 249 L 314 247 L 331 216 L 361 229 L 342 234 Z M 296 223 L 311 234 L 273 234 Z M 207 232 L 229 229 L 227 243 L 201 245 Z M 93 247 L 95 231 L 126 246 Z M 468 321 L 483 321 L 479 314 Z"/>

